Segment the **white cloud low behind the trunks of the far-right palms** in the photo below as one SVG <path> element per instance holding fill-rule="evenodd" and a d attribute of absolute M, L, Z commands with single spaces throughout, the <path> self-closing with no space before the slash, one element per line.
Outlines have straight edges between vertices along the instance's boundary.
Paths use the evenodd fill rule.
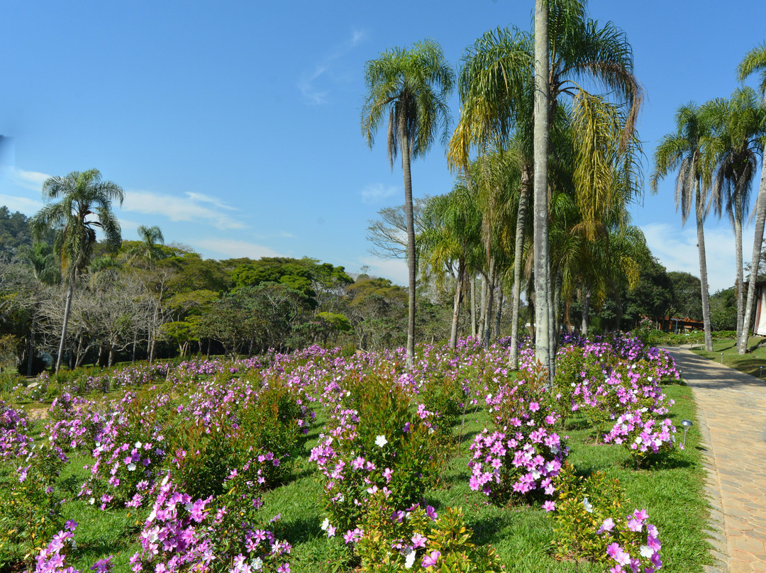
<path fill-rule="evenodd" d="M 693 223 L 693 221 L 692 221 Z M 693 225 L 680 228 L 667 223 L 641 226 L 652 254 L 667 270 L 682 270 L 699 277 L 697 230 Z M 752 234 L 745 229 L 742 242 L 745 252 L 752 248 Z M 750 247 L 748 247 L 748 243 Z M 709 292 L 727 289 L 735 280 L 734 232 L 721 228 L 705 228 L 705 259 L 708 267 Z M 745 259 L 745 263 L 747 259 Z"/>

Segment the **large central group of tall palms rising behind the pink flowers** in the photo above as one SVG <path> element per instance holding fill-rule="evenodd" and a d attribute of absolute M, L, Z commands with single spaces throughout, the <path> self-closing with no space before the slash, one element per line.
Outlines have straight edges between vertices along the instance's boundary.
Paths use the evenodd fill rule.
<path fill-rule="evenodd" d="M 401 151 L 412 313 L 410 160 L 437 128 L 447 136 L 445 100 L 456 82 L 433 41 L 381 54 L 365 77 L 362 131 L 372 146 L 388 115 L 391 161 Z M 421 267 L 453 271 L 455 325 L 466 278 L 482 274 L 487 341 L 494 293 L 512 283 L 514 367 L 522 282 L 532 280 L 536 356 L 552 375 L 565 303 L 578 294 L 587 309 L 634 283 L 648 257 L 627 212 L 640 190 L 635 123 L 643 97 L 630 44 L 611 22 L 588 18 L 585 2 L 538 0 L 534 33 L 484 34 L 466 50 L 457 87 L 460 118 L 447 151 L 457 183 L 425 214 L 432 224 L 421 237 Z M 452 344 L 455 338 L 453 326 Z M 408 344 L 408 359 L 412 352 Z"/>

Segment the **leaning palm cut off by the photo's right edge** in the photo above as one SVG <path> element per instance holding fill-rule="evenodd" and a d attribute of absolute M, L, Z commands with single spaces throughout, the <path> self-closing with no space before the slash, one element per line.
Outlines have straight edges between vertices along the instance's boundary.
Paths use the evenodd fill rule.
<path fill-rule="evenodd" d="M 753 73 L 761 74 L 758 88 L 764 95 L 766 105 L 766 44 L 754 47 L 745 54 L 737 68 L 739 81 Z M 761 141 L 761 152 L 766 147 L 766 142 Z M 764 224 L 766 224 L 766 160 L 761 160 L 761 185 L 758 187 L 758 199 L 755 201 L 755 241 L 753 241 L 753 257 L 750 267 L 750 283 L 748 284 L 748 300 L 745 303 L 745 319 L 742 322 L 742 332 L 737 341 L 737 352 L 745 354 L 748 349 L 748 336 L 750 336 L 750 323 L 753 308 L 755 306 L 755 280 L 758 278 L 758 265 L 761 264 L 761 245 L 764 236 Z"/>

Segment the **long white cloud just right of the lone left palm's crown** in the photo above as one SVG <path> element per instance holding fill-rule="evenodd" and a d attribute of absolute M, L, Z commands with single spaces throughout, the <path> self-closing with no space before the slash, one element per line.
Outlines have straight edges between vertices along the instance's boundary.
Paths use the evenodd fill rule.
<path fill-rule="evenodd" d="M 123 201 L 123 211 L 164 215 L 171 221 L 201 221 L 221 230 L 244 228 L 241 222 L 221 213 L 222 208 L 231 210 L 222 201 L 198 193 L 186 193 L 186 198 L 183 198 L 149 191 L 127 191 Z"/>

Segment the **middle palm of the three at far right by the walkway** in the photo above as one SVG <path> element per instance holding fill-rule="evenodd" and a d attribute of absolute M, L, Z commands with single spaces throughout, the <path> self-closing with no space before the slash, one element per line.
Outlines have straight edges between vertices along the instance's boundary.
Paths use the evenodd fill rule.
<path fill-rule="evenodd" d="M 731 100 L 718 98 L 702 107 L 716 131 L 713 146 L 718 153 L 718 167 L 711 201 L 716 214 L 726 211 L 734 228 L 739 340 L 745 319 L 742 225 L 750 212 L 750 192 L 761 152 L 759 142 L 766 135 L 766 117 L 751 87 L 738 88 Z"/>

